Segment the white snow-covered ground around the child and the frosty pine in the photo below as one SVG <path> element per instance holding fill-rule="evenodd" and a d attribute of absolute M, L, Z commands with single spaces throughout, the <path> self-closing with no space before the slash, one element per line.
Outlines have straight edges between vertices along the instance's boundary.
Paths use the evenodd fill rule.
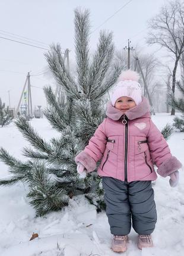
<path fill-rule="evenodd" d="M 154 123 L 162 129 L 172 123 L 169 114 L 157 114 Z M 33 127 L 46 140 L 58 136 L 46 119 L 34 119 Z M 168 141 L 172 154 L 184 166 L 184 133 L 175 133 Z M 0 146 L 19 159 L 24 159 L 21 149 L 28 142 L 14 124 L 0 128 Z M 8 176 L 8 168 L 0 162 L 0 179 Z M 154 248 L 137 248 L 137 234 L 129 235 L 127 256 L 182 256 L 184 254 L 184 173 L 180 183 L 170 188 L 169 178 L 158 177 L 153 185 L 157 205 L 157 225 L 153 233 Z M 26 198 L 23 184 L 0 187 L 0 255 L 1 256 L 112 256 L 112 235 L 105 213 L 96 213 L 94 205 L 83 196 L 73 198 L 69 207 L 45 217 L 35 218 L 33 208 Z M 39 238 L 30 241 L 32 234 Z"/>

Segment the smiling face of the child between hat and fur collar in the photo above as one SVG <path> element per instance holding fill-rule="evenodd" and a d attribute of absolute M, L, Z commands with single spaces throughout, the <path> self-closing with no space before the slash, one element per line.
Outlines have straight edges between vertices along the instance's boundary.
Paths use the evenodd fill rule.
<path fill-rule="evenodd" d="M 134 108 L 136 106 L 134 99 L 127 96 L 122 96 L 117 99 L 115 103 L 115 108 L 125 113 L 127 110 Z"/>

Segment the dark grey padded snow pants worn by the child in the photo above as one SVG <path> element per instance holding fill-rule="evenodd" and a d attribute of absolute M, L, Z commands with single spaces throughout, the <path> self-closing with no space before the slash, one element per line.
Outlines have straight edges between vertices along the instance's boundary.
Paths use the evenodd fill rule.
<path fill-rule="evenodd" d="M 110 232 L 113 235 L 128 235 L 132 221 L 135 232 L 150 235 L 157 221 L 151 181 L 123 182 L 102 177 L 102 183 Z"/>

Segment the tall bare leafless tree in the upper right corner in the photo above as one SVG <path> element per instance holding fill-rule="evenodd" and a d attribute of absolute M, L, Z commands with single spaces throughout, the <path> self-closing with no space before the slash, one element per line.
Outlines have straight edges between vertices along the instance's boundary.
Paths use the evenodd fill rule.
<path fill-rule="evenodd" d="M 176 0 L 164 5 L 160 13 L 149 21 L 148 26 L 150 33 L 148 33 L 147 42 L 150 45 L 154 43 L 161 45 L 175 58 L 175 65 L 172 70 L 172 93 L 175 96 L 177 65 L 184 52 L 183 2 Z M 175 115 L 174 107 L 172 107 L 171 114 Z"/>

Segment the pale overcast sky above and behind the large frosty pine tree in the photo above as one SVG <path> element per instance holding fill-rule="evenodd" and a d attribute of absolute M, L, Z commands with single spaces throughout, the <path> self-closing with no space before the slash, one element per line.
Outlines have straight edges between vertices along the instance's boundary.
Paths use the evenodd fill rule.
<path fill-rule="evenodd" d="M 31 76 L 33 108 L 36 105 L 43 107 L 46 105 L 43 86 L 48 84 L 55 86 L 50 77 L 42 74 L 47 67 L 43 55 L 46 52 L 45 49 L 3 38 L 30 43 L 41 48 L 49 48 L 52 42 L 59 42 L 64 50 L 69 48 L 71 51 L 69 56 L 74 62 L 74 9 L 81 7 L 90 9 L 91 52 L 96 49 L 101 29 L 113 31 L 113 40 L 117 49 L 125 47 L 128 39 L 131 39 L 131 46 L 138 44 L 144 48 L 144 51 L 154 52 L 154 48 L 148 47 L 145 43 L 147 20 L 159 12 L 164 2 L 166 1 L 0 0 L 0 97 L 2 101 L 9 105 L 9 90 L 11 107 L 17 107 L 28 71 L 31 71 L 30 74 L 37 75 Z M 127 5 L 123 7 L 125 4 Z M 12 33 L 18 36 L 13 38 Z"/>

